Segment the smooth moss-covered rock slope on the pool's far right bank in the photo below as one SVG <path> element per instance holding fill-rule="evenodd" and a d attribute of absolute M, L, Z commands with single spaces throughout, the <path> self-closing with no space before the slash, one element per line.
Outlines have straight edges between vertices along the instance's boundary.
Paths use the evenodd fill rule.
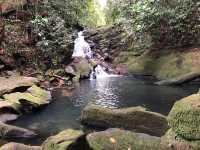
<path fill-rule="evenodd" d="M 197 52 L 165 52 L 144 53 L 134 56 L 134 52 L 121 52 L 115 64 L 126 64 L 131 73 L 150 74 L 159 79 L 174 78 L 199 70 L 199 54 Z"/>

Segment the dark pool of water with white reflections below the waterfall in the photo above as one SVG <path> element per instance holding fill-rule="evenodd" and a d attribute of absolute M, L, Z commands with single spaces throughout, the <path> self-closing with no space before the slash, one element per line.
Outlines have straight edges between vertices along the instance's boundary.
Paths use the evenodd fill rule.
<path fill-rule="evenodd" d="M 174 102 L 182 97 L 197 92 L 198 86 L 184 87 L 156 86 L 150 82 L 134 78 L 115 77 L 83 81 L 70 93 L 54 93 L 54 102 L 34 114 L 22 116 L 14 125 L 33 129 L 40 138 L 27 141 L 38 144 L 46 137 L 64 129 L 80 129 L 80 112 L 88 103 L 108 108 L 145 106 L 147 109 L 167 115 Z M 21 142 L 21 141 L 20 141 Z"/>

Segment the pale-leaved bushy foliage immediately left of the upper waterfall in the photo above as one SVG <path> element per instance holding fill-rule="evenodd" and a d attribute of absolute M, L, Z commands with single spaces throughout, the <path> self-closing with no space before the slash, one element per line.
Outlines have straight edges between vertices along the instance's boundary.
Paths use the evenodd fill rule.
<path fill-rule="evenodd" d="M 49 68 L 62 64 L 64 60 L 67 62 L 72 52 L 71 32 L 65 27 L 65 21 L 54 11 L 49 13 L 48 17 L 38 15 L 30 22 L 36 37 L 38 54 L 35 62 L 40 68 L 41 65 Z"/>

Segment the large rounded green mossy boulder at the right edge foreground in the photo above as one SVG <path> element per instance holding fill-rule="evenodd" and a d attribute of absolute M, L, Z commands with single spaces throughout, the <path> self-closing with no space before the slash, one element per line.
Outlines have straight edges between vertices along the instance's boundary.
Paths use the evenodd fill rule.
<path fill-rule="evenodd" d="M 169 113 L 172 130 L 187 140 L 200 140 L 200 94 L 176 102 Z"/>

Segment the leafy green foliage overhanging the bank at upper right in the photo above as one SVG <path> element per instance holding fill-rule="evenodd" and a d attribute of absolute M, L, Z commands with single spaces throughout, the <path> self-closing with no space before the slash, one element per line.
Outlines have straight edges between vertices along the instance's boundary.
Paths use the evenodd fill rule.
<path fill-rule="evenodd" d="M 129 20 L 137 39 L 150 35 L 149 46 L 187 46 L 200 36 L 198 0 L 110 1 L 113 21 Z"/>

